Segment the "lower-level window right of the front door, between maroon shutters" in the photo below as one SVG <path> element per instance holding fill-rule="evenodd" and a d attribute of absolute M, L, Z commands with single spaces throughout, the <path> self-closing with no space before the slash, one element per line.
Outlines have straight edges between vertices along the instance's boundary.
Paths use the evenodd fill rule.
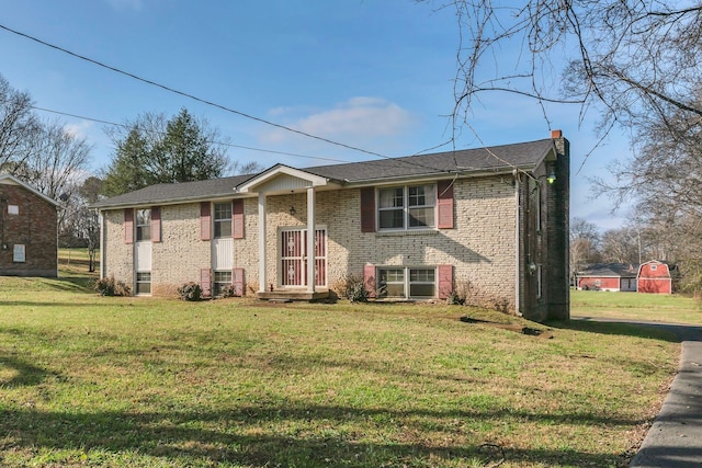
<path fill-rule="evenodd" d="M 437 297 L 435 269 L 378 269 L 378 297 L 430 298 Z"/>

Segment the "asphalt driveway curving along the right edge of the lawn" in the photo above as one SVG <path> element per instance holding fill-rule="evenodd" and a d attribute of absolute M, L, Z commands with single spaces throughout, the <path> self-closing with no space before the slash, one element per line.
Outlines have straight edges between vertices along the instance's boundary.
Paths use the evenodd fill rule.
<path fill-rule="evenodd" d="M 680 368 L 660 413 L 630 468 L 702 467 L 702 327 L 635 320 L 573 317 L 574 320 L 633 323 L 670 331 L 682 344 Z"/>

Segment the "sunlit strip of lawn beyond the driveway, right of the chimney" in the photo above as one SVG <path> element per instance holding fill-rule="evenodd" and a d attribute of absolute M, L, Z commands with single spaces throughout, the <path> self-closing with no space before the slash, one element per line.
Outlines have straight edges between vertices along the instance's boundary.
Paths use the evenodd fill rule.
<path fill-rule="evenodd" d="M 570 313 L 702 324 L 702 303 L 680 295 L 571 289 Z"/>

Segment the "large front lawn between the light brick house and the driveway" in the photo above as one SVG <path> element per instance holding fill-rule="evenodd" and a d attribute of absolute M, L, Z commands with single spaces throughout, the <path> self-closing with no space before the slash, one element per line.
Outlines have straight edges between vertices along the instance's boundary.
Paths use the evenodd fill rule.
<path fill-rule="evenodd" d="M 678 351 L 625 324 L 458 306 L 109 298 L 3 277 L 0 465 L 625 466 Z"/>

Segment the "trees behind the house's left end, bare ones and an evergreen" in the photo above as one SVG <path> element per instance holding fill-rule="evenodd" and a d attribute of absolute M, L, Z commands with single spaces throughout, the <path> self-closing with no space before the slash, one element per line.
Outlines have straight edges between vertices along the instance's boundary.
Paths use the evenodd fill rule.
<path fill-rule="evenodd" d="M 105 129 L 114 144 L 111 162 L 90 173 L 91 146 L 58 121 L 38 117 L 29 92 L 0 76 L 0 173 L 27 182 L 60 204 L 61 247 L 87 247 L 91 271 L 99 247 L 98 214 L 90 205 L 156 183 L 191 182 L 260 171 L 227 156 L 227 141 L 186 109 L 167 118 L 146 113 Z"/>

